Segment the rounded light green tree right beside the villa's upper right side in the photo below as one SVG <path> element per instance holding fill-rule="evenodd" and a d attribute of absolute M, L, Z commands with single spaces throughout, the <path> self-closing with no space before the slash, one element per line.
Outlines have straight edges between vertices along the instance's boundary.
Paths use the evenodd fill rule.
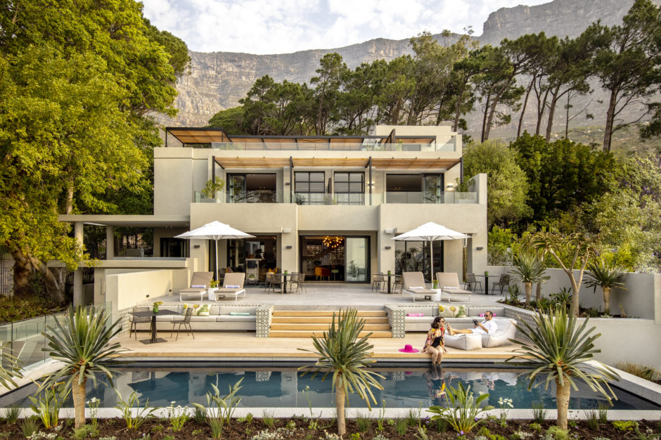
<path fill-rule="evenodd" d="M 528 182 L 516 152 L 499 141 L 469 143 L 463 154 L 465 176 L 487 174 L 487 224 L 505 226 L 529 214 Z"/>

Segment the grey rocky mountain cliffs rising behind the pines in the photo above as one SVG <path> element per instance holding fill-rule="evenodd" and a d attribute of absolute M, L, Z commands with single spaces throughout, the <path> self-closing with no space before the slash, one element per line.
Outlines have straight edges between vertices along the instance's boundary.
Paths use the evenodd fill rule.
<path fill-rule="evenodd" d="M 655 0 L 660 3 L 661 0 Z M 588 25 L 597 20 L 605 25 L 622 21 L 633 0 L 554 0 L 538 6 L 516 6 L 500 8 L 489 15 L 484 22 L 480 37 L 481 44 L 497 45 L 504 38 L 515 39 L 521 35 L 546 32 L 558 37 L 576 37 Z M 439 23 L 442 28 L 442 23 Z M 423 31 L 423 30 L 421 30 Z M 437 35 L 436 37 L 439 37 Z M 206 125 L 214 113 L 224 108 L 238 105 L 255 79 L 269 75 L 276 81 L 287 79 L 293 82 L 308 82 L 319 67 L 319 60 L 326 53 L 338 52 L 349 67 L 373 60 L 392 60 L 411 53 L 409 40 L 373 39 L 342 48 L 319 49 L 283 53 L 276 55 L 252 55 L 232 52 L 190 52 L 190 75 L 184 75 L 177 83 L 179 96 L 175 105 L 179 114 L 174 119 L 162 120 L 169 126 L 195 127 Z M 575 108 L 584 103 L 590 106 L 599 122 L 601 111 L 601 91 L 586 97 L 584 102 L 577 100 Z M 564 124 L 564 115 L 558 115 L 556 124 Z M 477 113 L 469 115 L 469 132 L 475 134 L 480 122 Z M 513 118 L 516 119 L 516 118 Z M 578 122 L 581 124 L 581 122 Z M 584 121 L 584 124 L 588 122 Z M 558 127 L 561 129 L 561 127 Z M 501 127 L 493 132 L 499 136 L 511 134 L 512 127 Z"/>

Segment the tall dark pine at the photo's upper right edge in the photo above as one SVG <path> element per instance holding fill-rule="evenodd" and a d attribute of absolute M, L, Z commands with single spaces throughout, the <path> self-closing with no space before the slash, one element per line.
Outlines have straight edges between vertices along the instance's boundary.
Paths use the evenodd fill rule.
<path fill-rule="evenodd" d="M 661 64 L 661 8 L 650 0 L 636 0 L 622 25 L 601 27 L 605 47 L 597 51 L 594 68 L 609 93 L 603 150 L 610 151 L 612 134 L 641 120 L 624 121 L 622 111 L 655 92 Z"/>

